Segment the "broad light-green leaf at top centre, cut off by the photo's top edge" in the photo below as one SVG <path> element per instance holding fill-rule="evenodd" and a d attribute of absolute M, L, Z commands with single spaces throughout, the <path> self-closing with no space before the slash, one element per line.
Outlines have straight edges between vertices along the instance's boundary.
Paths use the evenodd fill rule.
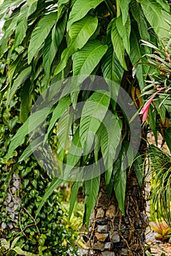
<path fill-rule="evenodd" d="M 77 0 L 72 7 L 67 23 L 67 31 L 72 26 L 72 23 L 82 19 L 91 9 L 95 9 L 103 0 Z"/>

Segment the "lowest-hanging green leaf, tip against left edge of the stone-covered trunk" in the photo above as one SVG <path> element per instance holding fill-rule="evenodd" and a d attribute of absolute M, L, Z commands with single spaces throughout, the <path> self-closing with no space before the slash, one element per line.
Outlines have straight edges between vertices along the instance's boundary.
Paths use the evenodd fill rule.
<path fill-rule="evenodd" d="M 92 176 L 94 174 L 94 171 L 96 170 L 91 170 L 92 171 Z M 97 176 L 96 178 L 91 178 L 88 181 L 84 181 L 84 189 L 85 189 L 85 204 L 86 204 L 86 224 L 88 226 L 89 219 L 91 216 L 92 211 L 94 210 L 94 207 L 96 205 L 96 199 L 97 195 L 99 193 L 99 184 L 100 184 L 100 175 Z"/>

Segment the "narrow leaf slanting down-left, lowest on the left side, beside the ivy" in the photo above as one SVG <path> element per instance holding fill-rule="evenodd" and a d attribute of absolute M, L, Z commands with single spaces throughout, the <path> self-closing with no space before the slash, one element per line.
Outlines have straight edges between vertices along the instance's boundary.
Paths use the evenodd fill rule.
<path fill-rule="evenodd" d="M 47 187 L 46 191 L 45 191 L 45 195 L 42 197 L 42 200 L 41 202 L 39 203 L 39 207 L 37 209 L 37 212 L 36 212 L 36 217 L 35 219 L 37 219 L 37 216 L 39 214 L 39 212 L 41 211 L 42 209 L 42 206 L 44 206 L 46 200 L 48 199 L 48 197 L 50 197 L 50 195 L 52 195 L 53 191 L 55 189 L 58 188 L 58 186 L 64 182 L 64 180 L 60 179 L 60 178 L 53 178 L 53 180 L 50 182 L 49 186 Z"/>

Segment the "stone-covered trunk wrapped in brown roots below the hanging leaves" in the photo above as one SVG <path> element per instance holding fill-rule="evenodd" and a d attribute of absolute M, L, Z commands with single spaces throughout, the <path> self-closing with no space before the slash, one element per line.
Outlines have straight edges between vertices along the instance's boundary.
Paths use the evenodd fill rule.
<path fill-rule="evenodd" d="M 125 216 L 118 208 L 114 193 L 109 198 L 104 176 L 88 228 L 88 255 L 145 255 L 144 185 L 140 187 L 133 168 L 127 173 Z"/>

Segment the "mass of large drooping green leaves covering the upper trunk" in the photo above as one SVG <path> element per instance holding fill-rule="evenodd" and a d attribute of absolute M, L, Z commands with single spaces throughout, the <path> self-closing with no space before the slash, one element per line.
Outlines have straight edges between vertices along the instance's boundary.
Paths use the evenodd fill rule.
<path fill-rule="evenodd" d="M 127 113 L 123 113 L 121 106 L 116 104 L 117 100 L 114 101 L 112 98 L 113 94 L 117 94 L 117 86 L 121 86 L 128 94 L 131 94 L 133 87 L 144 89 L 149 67 L 138 65 L 134 78 L 132 67 L 137 61 L 146 61 L 145 53 L 151 53 L 147 46 L 140 45 L 140 39 L 157 45 L 159 37 L 168 37 L 170 7 L 167 1 L 4 0 L 4 4 L 1 5 L 1 17 L 12 5 L 17 5 L 17 8 L 4 24 L 0 54 L 7 56 L 8 51 L 5 49 L 11 43 L 12 51 L 18 55 L 9 66 L 8 78 L 3 84 L 1 94 L 7 91 L 7 105 L 12 102 L 15 94 L 20 95 L 20 121 L 23 122 L 23 126 L 12 138 L 8 158 L 12 157 L 16 148 L 23 143 L 29 131 L 34 132 L 36 136 L 34 148 L 37 148 L 37 141 L 40 146 L 45 145 L 45 140 L 50 143 L 50 135 L 57 129 L 56 166 L 60 173 L 63 173 L 61 163 L 69 165 L 69 169 L 66 168 L 60 178 L 57 176 L 53 179 L 39 206 L 39 211 L 47 197 L 59 186 L 62 178 L 69 177 L 72 167 L 93 163 L 94 167 L 91 167 L 88 173 L 89 178 L 83 182 L 86 194 L 85 220 L 88 222 L 99 190 L 100 180 L 99 175 L 94 177 L 95 170 L 99 173 L 102 169 L 106 170 L 106 184 L 110 187 L 110 192 L 114 189 L 118 204 L 124 213 L 125 156 L 131 140 L 129 120 L 132 116 L 126 116 Z M 12 42 L 11 37 L 14 38 Z M 102 76 L 106 82 L 96 91 L 91 87 L 91 79 L 86 79 L 92 74 Z M 57 83 L 58 80 L 69 76 L 76 78 L 77 75 L 80 76 L 77 83 L 67 83 L 67 80 L 64 80 L 64 83 Z M 113 80 L 112 86 L 109 80 Z M 81 87 L 84 85 L 83 82 L 88 85 L 85 93 Z M 52 89 L 45 91 L 47 86 L 51 86 Z M 63 95 L 61 92 L 65 89 L 66 95 Z M 56 96 L 54 91 L 61 95 L 58 102 L 53 104 L 53 97 Z M 28 118 L 31 106 L 35 103 L 37 95 L 42 92 L 45 102 L 38 105 L 39 111 Z M 69 106 L 73 105 L 75 108 L 79 102 L 84 104 L 83 111 L 77 118 L 75 111 L 69 111 L 72 109 Z M 140 105 L 137 107 L 140 108 Z M 128 104 L 126 108 L 129 108 Z M 112 116 L 108 115 L 107 110 L 110 110 Z M 39 124 L 46 118 L 46 137 L 45 140 L 39 141 L 37 130 Z M 104 126 L 105 121 L 108 124 L 107 128 Z M 29 129 L 28 124 L 31 124 Z M 38 135 L 41 135 L 41 132 Z M 121 135 L 123 138 L 120 154 L 114 161 Z M 134 137 L 136 138 L 135 133 Z M 29 154 L 31 148 L 28 146 L 21 159 L 26 160 Z M 103 164 L 99 166 L 98 160 L 101 157 Z M 127 160 L 129 164 L 133 161 Z M 52 163 L 50 158 L 49 162 Z M 142 184 L 142 170 L 136 170 L 139 183 Z M 70 213 L 75 205 L 79 186 L 80 181 L 73 185 Z"/>

